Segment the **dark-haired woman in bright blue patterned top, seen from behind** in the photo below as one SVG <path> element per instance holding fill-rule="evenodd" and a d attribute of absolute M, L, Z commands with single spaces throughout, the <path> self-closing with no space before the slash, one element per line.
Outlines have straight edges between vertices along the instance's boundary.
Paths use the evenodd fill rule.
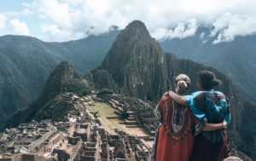
<path fill-rule="evenodd" d="M 202 71 L 198 74 L 197 86 L 201 91 L 191 95 L 177 95 L 170 91 L 173 100 L 183 106 L 189 106 L 196 118 L 208 123 L 230 123 L 230 104 L 226 96 L 214 87 L 222 83 L 214 73 Z M 190 161 L 222 161 L 230 155 L 226 129 L 203 131 L 195 137 L 195 145 Z"/>

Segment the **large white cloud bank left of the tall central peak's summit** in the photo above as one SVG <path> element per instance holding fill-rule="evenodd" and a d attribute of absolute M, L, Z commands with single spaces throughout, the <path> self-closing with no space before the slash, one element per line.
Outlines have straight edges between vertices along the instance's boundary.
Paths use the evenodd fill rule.
<path fill-rule="evenodd" d="M 126 20 L 117 4 L 112 4 L 102 0 L 34 0 L 25 6 L 44 21 L 40 26 L 48 36 L 44 40 L 67 41 L 86 37 L 91 28 L 96 35 L 108 32 L 109 26 L 124 28 L 130 20 Z"/>

